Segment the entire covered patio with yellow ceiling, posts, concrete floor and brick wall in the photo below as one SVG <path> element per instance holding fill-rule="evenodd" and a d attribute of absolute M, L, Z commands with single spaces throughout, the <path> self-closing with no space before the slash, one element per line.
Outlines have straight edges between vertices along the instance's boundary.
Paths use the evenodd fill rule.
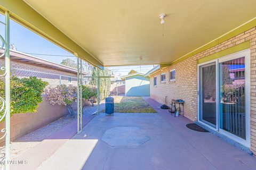
<path fill-rule="evenodd" d="M 5 119 L 1 130 L 4 168 L 255 169 L 255 8 L 253 0 L 1 1 L 0 12 L 5 15 L 1 22 L 5 27 L 5 38 L 1 37 L 5 98 L 0 98 L 1 120 Z M 20 155 L 17 161 L 27 160 L 26 165 L 10 159 L 10 20 L 77 57 L 77 120 Z M 82 60 L 98 69 L 93 77 L 98 83 L 97 111 L 87 115 L 82 115 Z M 150 80 L 150 97 L 143 99 L 157 113 L 100 114 L 99 82 L 107 76 L 100 77 L 99 70 L 149 64 L 157 66 L 144 75 Z M 222 70 L 221 64 L 225 65 Z M 240 70 L 230 65 L 241 65 Z M 213 79 L 205 79 L 205 84 L 210 88 L 203 86 L 200 77 L 207 66 L 211 69 L 206 69 L 206 78 Z M 223 76 L 227 78 L 222 86 Z M 233 90 L 226 96 L 221 91 L 225 86 L 227 93 Z M 210 92 L 202 97 L 205 89 Z M 185 100 L 185 117 L 159 108 L 171 99 Z M 206 118 L 212 123 L 203 120 L 201 104 L 209 102 L 213 109 Z M 223 104 L 230 107 L 221 110 Z M 228 118 L 222 119 L 223 114 Z M 212 133 L 186 127 L 194 122 L 206 125 Z"/>

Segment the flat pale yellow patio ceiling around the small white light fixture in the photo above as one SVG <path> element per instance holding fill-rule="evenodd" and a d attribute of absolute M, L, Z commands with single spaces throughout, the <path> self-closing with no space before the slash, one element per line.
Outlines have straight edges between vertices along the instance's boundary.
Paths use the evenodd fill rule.
<path fill-rule="evenodd" d="M 105 66 L 171 63 L 256 16 L 255 0 L 25 2 Z"/>

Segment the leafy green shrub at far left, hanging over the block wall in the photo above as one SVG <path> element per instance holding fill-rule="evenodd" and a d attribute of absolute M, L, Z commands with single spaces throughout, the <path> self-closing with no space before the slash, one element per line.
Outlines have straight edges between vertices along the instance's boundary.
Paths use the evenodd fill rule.
<path fill-rule="evenodd" d="M 42 93 L 47 82 L 36 77 L 10 78 L 11 101 L 10 113 L 33 113 L 37 112 L 38 104 L 43 101 Z M 0 96 L 5 98 L 5 81 L 0 79 Z M 3 113 L 0 113 L 3 115 Z"/>

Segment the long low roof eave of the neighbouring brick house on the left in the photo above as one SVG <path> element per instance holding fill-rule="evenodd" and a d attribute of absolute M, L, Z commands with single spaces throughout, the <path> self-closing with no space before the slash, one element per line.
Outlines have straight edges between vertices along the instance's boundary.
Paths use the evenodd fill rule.
<path fill-rule="evenodd" d="M 0 50 L 0 53 L 3 53 L 3 50 Z M 54 63 L 48 60 L 44 60 L 42 58 L 29 55 L 26 53 L 22 53 L 13 49 L 10 49 L 10 58 L 11 58 L 11 61 L 13 62 L 19 62 L 23 64 L 28 64 L 28 65 L 44 67 L 46 69 L 52 69 L 52 70 L 58 70 L 62 72 L 77 74 L 77 69 L 74 69 L 72 67 Z M 82 74 L 89 74 L 89 73 L 83 71 Z"/>

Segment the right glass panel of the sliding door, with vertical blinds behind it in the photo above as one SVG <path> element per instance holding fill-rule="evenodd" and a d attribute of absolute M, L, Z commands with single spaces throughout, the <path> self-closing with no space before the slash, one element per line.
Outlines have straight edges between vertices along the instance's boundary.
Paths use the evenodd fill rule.
<path fill-rule="evenodd" d="M 219 71 L 220 129 L 245 139 L 245 57 L 219 63 Z"/>

